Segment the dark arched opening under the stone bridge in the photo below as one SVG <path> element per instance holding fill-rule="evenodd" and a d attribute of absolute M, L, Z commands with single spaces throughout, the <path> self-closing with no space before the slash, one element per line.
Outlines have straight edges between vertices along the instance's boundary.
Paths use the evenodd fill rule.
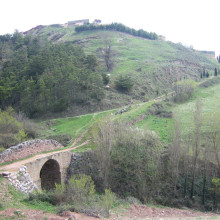
<path fill-rule="evenodd" d="M 44 163 L 40 171 L 40 179 L 42 190 L 53 190 L 55 188 L 55 183 L 61 183 L 59 163 L 53 159 Z"/>

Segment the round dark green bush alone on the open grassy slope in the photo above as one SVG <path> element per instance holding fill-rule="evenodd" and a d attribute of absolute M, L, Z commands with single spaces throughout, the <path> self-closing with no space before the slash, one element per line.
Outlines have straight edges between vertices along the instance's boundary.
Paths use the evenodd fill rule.
<path fill-rule="evenodd" d="M 122 92 L 128 92 L 132 89 L 134 83 L 130 76 L 128 75 L 119 75 L 115 80 L 116 89 Z"/>

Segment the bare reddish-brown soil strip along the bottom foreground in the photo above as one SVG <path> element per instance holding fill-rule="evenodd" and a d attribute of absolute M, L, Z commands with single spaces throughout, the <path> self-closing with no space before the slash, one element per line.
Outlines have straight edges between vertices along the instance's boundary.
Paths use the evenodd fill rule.
<path fill-rule="evenodd" d="M 0 220 L 11 219 L 26 219 L 26 220 L 96 220 L 98 218 L 90 217 L 82 213 L 75 213 L 66 211 L 62 216 L 58 216 L 51 213 L 45 213 L 40 210 L 27 210 L 27 209 L 14 209 L 8 208 L 4 211 L 0 211 Z M 105 218 L 99 218 L 104 220 Z M 214 213 L 202 213 L 192 210 L 181 210 L 175 208 L 152 208 L 143 205 L 132 205 L 129 209 L 118 214 L 111 214 L 109 220 L 168 220 L 168 219 L 220 219 L 220 215 Z M 105 219 L 107 220 L 107 219 Z"/>

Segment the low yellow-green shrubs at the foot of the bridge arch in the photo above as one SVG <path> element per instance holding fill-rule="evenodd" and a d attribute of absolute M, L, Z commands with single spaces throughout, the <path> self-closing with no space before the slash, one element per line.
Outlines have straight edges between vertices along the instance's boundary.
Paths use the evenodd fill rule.
<path fill-rule="evenodd" d="M 116 197 L 111 190 L 106 190 L 103 195 L 96 194 L 91 177 L 79 174 L 72 176 L 67 184 L 56 184 L 54 191 L 30 194 L 27 201 L 32 204 L 37 201 L 49 202 L 57 206 L 58 214 L 70 210 L 94 217 L 108 217 Z"/>

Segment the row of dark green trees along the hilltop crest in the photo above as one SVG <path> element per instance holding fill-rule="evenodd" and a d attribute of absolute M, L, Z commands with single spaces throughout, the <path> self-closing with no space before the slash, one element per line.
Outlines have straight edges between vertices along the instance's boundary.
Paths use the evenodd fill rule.
<path fill-rule="evenodd" d="M 134 28 L 127 27 L 120 23 L 111 23 L 111 24 L 106 24 L 106 25 L 86 24 L 86 25 L 81 25 L 75 28 L 76 32 L 90 31 L 90 30 L 119 31 L 119 32 L 127 33 L 133 36 L 150 39 L 150 40 L 158 39 L 158 36 L 156 33 L 147 32 L 147 31 L 144 31 L 143 29 L 135 30 Z"/>

